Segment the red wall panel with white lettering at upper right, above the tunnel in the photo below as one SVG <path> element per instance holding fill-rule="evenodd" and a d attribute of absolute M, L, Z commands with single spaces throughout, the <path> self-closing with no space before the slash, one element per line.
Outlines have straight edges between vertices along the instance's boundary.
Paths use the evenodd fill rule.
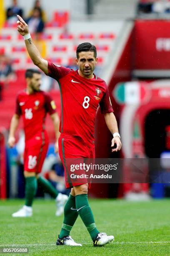
<path fill-rule="evenodd" d="M 134 69 L 170 69 L 170 20 L 136 20 Z"/>

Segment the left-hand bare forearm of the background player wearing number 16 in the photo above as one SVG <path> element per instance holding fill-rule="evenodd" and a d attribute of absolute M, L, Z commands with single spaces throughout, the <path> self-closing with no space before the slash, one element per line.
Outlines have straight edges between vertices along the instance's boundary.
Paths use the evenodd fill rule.
<path fill-rule="evenodd" d="M 15 146 L 15 131 L 18 128 L 20 116 L 17 114 L 14 114 L 11 123 L 10 123 L 10 133 L 9 133 L 9 138 L 8 138 L 8 145 L 10 148 L 13 148 Z"/>

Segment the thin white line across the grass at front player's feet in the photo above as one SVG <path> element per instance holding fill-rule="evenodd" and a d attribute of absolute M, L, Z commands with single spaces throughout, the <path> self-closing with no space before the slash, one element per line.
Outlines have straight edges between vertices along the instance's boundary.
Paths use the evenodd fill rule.
<path fill-rule="evenodd" d="M 153 243 L 158 243 L 158 244 L 165 244 L 165 243 L 170 243 L 170 241 L 141 241 L 141 242 L 113 242 L 113 244 L 153 244 Z M 87 245 L 89 243 L 82 243 L 82 245 Z M 51 244 L 45 244 L 45 243 L 35 243 L 35 244 L 0 244 L 0 247 L 11 247 L 11 246 L 55 246 L 55 243 Z"/>

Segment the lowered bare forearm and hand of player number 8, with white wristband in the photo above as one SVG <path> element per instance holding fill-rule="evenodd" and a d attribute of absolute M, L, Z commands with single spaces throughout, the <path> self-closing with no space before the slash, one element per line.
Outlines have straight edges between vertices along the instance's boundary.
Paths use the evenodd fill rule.
<path fill-rule="evenodd" d="M 119 133 L 118 127 L 117 127 L 117 121 L 115 118 L 115 115 L 111 112 L 111 113 L 105 113 L 105 122 L 106 125 L 108 127 L 108 129 L 110 130 L 110 132 L 112 133 L 112 135 L 114 133 Z M 122 143 L 120 141 L 120 137 L 118 136 L 118 134 L 115 134 L 117 136 L 114 136 L 112 138 L 112 145 L 111 147 L 114 147 L 114 145 L 116 144 L 116 148 L 112 148 L 112 152 L 117 152 L 120 150 Z"/>

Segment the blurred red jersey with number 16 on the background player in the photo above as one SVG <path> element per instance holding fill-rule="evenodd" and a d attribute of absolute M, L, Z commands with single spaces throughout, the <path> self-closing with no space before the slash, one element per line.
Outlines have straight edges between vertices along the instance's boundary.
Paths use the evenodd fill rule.
<path fill-rule="evenodd" d="M 45 130 L 46 113 L 54 114 L 55 108 L 55 102 L 47 92 L 18 93 L 15 113 L 23 116 L 25 141 Z"/>

